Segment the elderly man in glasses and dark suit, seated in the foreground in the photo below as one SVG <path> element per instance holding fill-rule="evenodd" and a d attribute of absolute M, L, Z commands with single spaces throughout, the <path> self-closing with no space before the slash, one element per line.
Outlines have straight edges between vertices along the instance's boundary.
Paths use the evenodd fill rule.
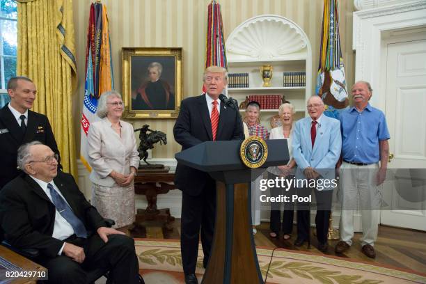
<path fill-rule="evenodd" d="M 13 248 L 48 269 L 48 283 L 143 283 L 134 240 L 111 227 L 57 170 L 56 154 L 38 141 L 18 149 L 23 173 L 0 191 L 0 229 Z"/>

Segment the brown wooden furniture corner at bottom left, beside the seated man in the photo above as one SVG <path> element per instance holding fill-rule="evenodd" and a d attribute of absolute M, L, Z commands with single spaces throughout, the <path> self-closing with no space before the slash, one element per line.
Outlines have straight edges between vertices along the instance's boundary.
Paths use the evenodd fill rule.
<path fill-rule="evenodd" d="M 31 271 L 32 275 L 31 277 L 22 278 L 22 277 L 6 277 L 6 271 L 11 271 L 10 269 L 6 269 L 5 267 L 0 267 L 0 283 L 3 283 L 3 281 L 10 281 L 6 283 L 14 283 L 14 284 L 21 284 L 21 283 L 34 283 L 36 284 L 36 281 L 38 279 L 42 279 L 44 276 L 44 279 L 47 279 L 47 269 L 45 267 L 42 267 L 41 265 L 38 265 L 36 262 L 32 262 L 31 260 L 24 258 L 22 255 L 19 255 L 13 251 L 10 251 L 9 248 L 6 248 L 4 246 L 0 245 L 0 260 L 6 260 L 7 262 L 12 263 L 12 265 L 15 265 L 16 267 L 19 267 L 22 269 L 22 271 Z M 36 275 L 34 275 L 36 274 Z"/>

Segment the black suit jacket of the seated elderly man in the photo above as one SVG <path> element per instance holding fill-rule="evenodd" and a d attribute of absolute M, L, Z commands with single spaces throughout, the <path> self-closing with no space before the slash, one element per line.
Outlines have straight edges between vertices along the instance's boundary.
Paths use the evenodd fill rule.
<path fill-rule="evenodd" d="M 104 219 L 79 191 L 72 175 L 58 171 L 58 189 L 88 235 L 105 226 Z M 52 237 L 55 206 L 38 183 L 22 173 L 0 191 L 0 228 L 4 238 L 17 248 L 37 248 L 43 256 L 54 258 L 63 241 Z"/>

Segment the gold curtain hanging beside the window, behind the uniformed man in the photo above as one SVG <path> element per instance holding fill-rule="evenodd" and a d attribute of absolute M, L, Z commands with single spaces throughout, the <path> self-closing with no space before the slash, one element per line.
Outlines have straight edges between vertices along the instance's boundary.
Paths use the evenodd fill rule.
<path fill-rule="evenodd" d="M 17 74 L 36 84 L 33 111 L 49 118 L 63 171 L 77 179 L 71 100 L 77 88 L 72 0 L 17 2 Z"/>

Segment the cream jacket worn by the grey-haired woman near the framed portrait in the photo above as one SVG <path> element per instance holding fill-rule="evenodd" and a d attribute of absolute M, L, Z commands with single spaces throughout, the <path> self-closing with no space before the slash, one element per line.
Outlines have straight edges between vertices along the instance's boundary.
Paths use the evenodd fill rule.
<path fill-rule="evenodd" d="M 89 164 L 92 167 L 90 180 L 103 187 L 118 186 L 113 178 L 109 177 L 112 171 L 128 175 L 130 166 L 139 167 L 139 152 L 133 126 L 120 120 L 120 137 L 111 125 L 108 118 L 103 118 L 90 125 L 87 135 Z"/>

